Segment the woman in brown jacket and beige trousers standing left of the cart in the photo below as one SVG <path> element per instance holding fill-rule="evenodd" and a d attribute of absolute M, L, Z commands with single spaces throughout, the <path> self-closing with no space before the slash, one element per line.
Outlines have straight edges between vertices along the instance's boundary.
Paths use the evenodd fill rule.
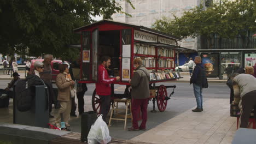
<path fill-rule="evenodd" d="M 68 74 L 68 65 L 61 64 L 59 66 L 60 74 L 56 77 L 56 85 L 58 87 L 58 96 L 57 100 L 60 101 L 60 109 L 56 110 L 54 113 L 54 122 L 57 127 L 60 127 L 61 114 L 63 116 L 63 121 L 65 122 L 66 127 L 69 127 L 68 124 L 71 112 L 71 87 L 74 86 L 74 81 L 70 81 L 67 77 Z"/>

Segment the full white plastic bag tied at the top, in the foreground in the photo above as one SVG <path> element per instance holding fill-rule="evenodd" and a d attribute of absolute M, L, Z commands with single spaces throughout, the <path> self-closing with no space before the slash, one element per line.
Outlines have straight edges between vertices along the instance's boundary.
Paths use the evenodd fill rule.
<path fill-rule="evenodd" d="M 93 125 L 91 125 L 91 129 L 88 134 L 88 144 L 107 144 L 111 141 L 111 137 L 109 136 L 108 125 L 103 121 L 102 115 L 98 115 L 97 120 Z"/>

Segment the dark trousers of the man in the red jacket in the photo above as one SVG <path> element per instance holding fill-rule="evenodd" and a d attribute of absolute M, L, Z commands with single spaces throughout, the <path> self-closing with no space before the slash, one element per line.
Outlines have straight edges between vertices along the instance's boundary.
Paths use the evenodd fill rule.
<path fill-rule="evenodd" d="M 102 114 L 102 119 L 106 121 L 106 116 L 108 115 L 108 112 L 110 110 L 110 95 L 99 95 L 101 100 L 101 109 L 100 114 Z"/>

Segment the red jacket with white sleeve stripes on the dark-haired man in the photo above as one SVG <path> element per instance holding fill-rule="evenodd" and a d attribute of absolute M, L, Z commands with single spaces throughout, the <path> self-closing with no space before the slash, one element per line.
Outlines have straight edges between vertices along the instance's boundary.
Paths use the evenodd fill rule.
<path fill-rule="evenodd" d="M 108 71 L 103 65 L 98 66 L 98 81 L 96 83 L 96 93 L 98 95 L 110 95 L 111 88 L 109 84 L 115 81 L 117 81 L 115 77 L 108 77 Z"/>

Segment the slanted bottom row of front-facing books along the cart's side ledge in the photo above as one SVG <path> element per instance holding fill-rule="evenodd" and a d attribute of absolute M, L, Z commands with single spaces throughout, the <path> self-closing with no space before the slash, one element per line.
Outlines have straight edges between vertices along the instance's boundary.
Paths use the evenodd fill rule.
<path fill-rule="evenodd" d="M 173 71 L 169 71 L 169 72 L 164 72 L 162 71 L 162 73 L 150 73 L 150 81 L 155 81 L 155 80 L 166 80 L 166 79 L 178 79 L 179 77 L 181 77 L 179 75 L 179 73 L 177 72 L 173 72 Z"/>

